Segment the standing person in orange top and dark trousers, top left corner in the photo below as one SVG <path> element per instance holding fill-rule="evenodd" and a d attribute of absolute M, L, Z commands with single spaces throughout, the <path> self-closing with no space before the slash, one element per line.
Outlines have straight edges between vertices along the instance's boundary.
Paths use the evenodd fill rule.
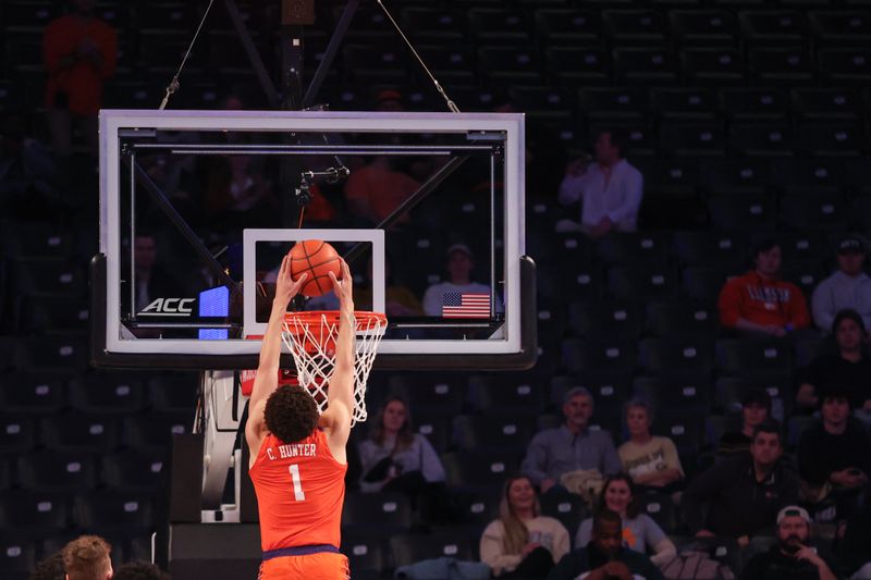
<path fill-rule="evenodd" d="M 73 125 L 97 153 L 97 112 L 102 84 L 115 70 L 118 35 L 94 15 L 94 0 L 72 0 L 73 12 L 48 24 L 42 53 L 48 82 L 46 113 L 54 153 L 73 152 Z"/>

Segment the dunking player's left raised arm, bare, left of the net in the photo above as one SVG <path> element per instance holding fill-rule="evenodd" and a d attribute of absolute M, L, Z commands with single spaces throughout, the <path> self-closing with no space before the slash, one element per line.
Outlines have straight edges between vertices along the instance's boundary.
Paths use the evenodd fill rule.
<path fill-rule="evenodd" d="M 275 297 L 272 300 L 272 311 L 269 323 L 260 346 L 260 361 L 257 367 L 257 377 L 254 380 L 252 398 L 248 403 L 248 423 L 252 420 L 262 421 L 261 403 L 278 387 L 279 361 L 281 359 L 281 330 L 284 328 L 284 313 L 291 299 L 299 292 L 308 274 L 302 274 L 295 282 L 291 277 L 291 259 L 285 256 L 281 260 L 278 279 L 275 281 Z"/>

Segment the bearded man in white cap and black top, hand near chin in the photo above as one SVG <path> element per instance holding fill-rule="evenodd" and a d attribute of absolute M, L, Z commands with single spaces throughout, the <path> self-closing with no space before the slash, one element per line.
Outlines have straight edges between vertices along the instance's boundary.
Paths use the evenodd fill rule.
<path fill-rule="evenodd" d="M 799 506 L 777 514 L 777 543 L 757 554 L 741 571 L 741 580 L 835 580 L 832 565 L 808 545 L 810 516 Z"/>

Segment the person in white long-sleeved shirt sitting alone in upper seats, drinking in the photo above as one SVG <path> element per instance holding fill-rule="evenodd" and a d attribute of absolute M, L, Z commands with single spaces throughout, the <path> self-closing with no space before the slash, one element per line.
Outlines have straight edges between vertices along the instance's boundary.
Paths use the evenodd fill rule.
<path fill-rule="evenodd" d="M 593 238 L 635 232 L 645 178 L 625 159 L 625 148 L 621 132 L 603 131 L 596 139 L 596 163 L 589 158 L 568 163 L 559 200 L 563 206 L 581 202 L 580 226 L 568 223 L 561 230 L 579 229 Z"/>

